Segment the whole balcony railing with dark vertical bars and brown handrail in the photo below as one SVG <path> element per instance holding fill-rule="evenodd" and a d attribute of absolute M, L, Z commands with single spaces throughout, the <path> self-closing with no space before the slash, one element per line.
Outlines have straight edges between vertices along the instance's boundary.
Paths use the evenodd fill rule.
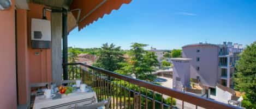
<path fill-rule="evenodd" d="M 67 65 L 69 79 L 82 78 L 82 81 L 96 92 L 98 101 L 111 97 L 113 109 L 239 108 L 84 63 L 68 63 Z M 168 97 L 169 101 L 166 100 Z"/>

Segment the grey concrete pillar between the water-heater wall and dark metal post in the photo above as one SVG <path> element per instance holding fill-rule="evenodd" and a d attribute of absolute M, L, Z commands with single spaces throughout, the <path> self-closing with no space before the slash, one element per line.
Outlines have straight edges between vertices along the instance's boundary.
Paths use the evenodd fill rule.
<path fill-rule="evenodd" d="M 62 81 L 62 14 L 51 13 L 51 54 L 52 81 L 57 85 Z"/>

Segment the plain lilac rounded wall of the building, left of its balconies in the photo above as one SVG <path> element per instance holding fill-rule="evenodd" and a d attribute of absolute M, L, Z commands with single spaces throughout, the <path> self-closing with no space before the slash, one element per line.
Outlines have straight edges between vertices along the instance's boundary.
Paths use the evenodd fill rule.
<path fill-rule="evenodd" d="M 197 52 L 197 49 L 200 52 Z M 190 78 L 200 76 L 201 82 L 208 87 L 215 87 L 218 82 L 218 46 L 203 44 L 182 48 L 182 57 L 191 58 Z M 197 57 L 200 61 L 197 61 Z M 197 66 L 200 68 L 197 70 Z"/>

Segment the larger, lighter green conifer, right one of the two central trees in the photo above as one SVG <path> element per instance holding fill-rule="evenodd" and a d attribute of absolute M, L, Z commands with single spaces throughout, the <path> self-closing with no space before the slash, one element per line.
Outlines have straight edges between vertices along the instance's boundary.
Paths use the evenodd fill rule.
<path fill-rule="evenodd" d="M 128 52 L 130 57 L 128 62 L 122 62 L 123 67 L 115 72 L 129 75 L 135 75 L 136 79 L 153 82 L 156 76 L 152 75 L 154 67 L 158 66 L 157 56 L 154 52 L 147 52 L 144 47 L 147 44 L 133 43 Z"/>

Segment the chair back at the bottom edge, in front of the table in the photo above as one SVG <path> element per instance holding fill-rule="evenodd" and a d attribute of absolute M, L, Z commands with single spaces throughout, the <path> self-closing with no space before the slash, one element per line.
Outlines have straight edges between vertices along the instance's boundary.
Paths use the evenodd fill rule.
<path fill-rule="evenodd" d="M 111 98 L 104 101 L 98 102 L 97 104 L 85 105 L 85 106 L 75 106 L 75 109 L 97 109 L 99 107 L 105 106 L 105 109 L 109 109 Z"/>

